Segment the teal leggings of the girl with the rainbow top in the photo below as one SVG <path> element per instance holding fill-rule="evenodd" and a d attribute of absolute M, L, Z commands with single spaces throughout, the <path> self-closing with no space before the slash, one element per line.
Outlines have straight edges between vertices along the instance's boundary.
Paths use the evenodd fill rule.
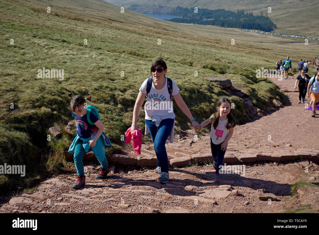
<path fill-rule="evenodd" d="M 101 138 L 99 138 L 96 141 L 96 145 L 91 148 L 93 150 L 95 157 L 101 163 L 101 167 L 103 169 L 108 168 L 108 161 L 106 160 L 106 156 L 105 156 L 105 146 L 103 145 Z M 83 166 L 84 153 L 85 152 L 83 148 L 83 140 L 79 139 L 78 143 L 75 145 L 73 159 L 74 159 L 75 168 L 77 169 L 78 176 L 83 176 L 83 177 L 85 177 L 84 166 Z"/>

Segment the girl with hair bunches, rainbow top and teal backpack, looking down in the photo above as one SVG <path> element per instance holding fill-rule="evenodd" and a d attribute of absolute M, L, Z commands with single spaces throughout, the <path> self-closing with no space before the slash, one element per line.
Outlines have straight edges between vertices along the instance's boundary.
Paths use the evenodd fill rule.
<path fill-rule="evenodd" d="M 69 96 L 71 97 L 72 117 L 75 118 L 77 131 L 73 136 L 68 152 L 74 153 L 73 159 L 78 173 L 78 180 L 72 187 L 78 189 L 85 185 L 83 157 L 90 147 L 101 163 L 100 172 L 95 178 L 106 179 L 109 168 L 105 156 L 105 145 L 111 145 L 111 142 L 103 132 L 104 125 L 100 121 L 98 110 L 96 107 L 86 104 L 86 100 L 91 101 L 91 95 L 84 98 L 80 95 L 73 96 L 70 92 Z"/>

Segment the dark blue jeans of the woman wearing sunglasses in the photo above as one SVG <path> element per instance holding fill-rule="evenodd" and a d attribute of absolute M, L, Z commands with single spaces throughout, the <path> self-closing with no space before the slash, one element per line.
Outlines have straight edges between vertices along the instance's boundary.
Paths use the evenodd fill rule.
<path fill-rule="evenodd" d="M 160 167 L 161 172 L 168 173 L 168 158 L 165 144 L 173 128 L 174 119 L 167 118 L 162 120 L 159 127 L 155 125 L 155 122 L 147 119 L 145 119 L 145 124 L 150 131 L 154 143 L 158 166 Z"/>

